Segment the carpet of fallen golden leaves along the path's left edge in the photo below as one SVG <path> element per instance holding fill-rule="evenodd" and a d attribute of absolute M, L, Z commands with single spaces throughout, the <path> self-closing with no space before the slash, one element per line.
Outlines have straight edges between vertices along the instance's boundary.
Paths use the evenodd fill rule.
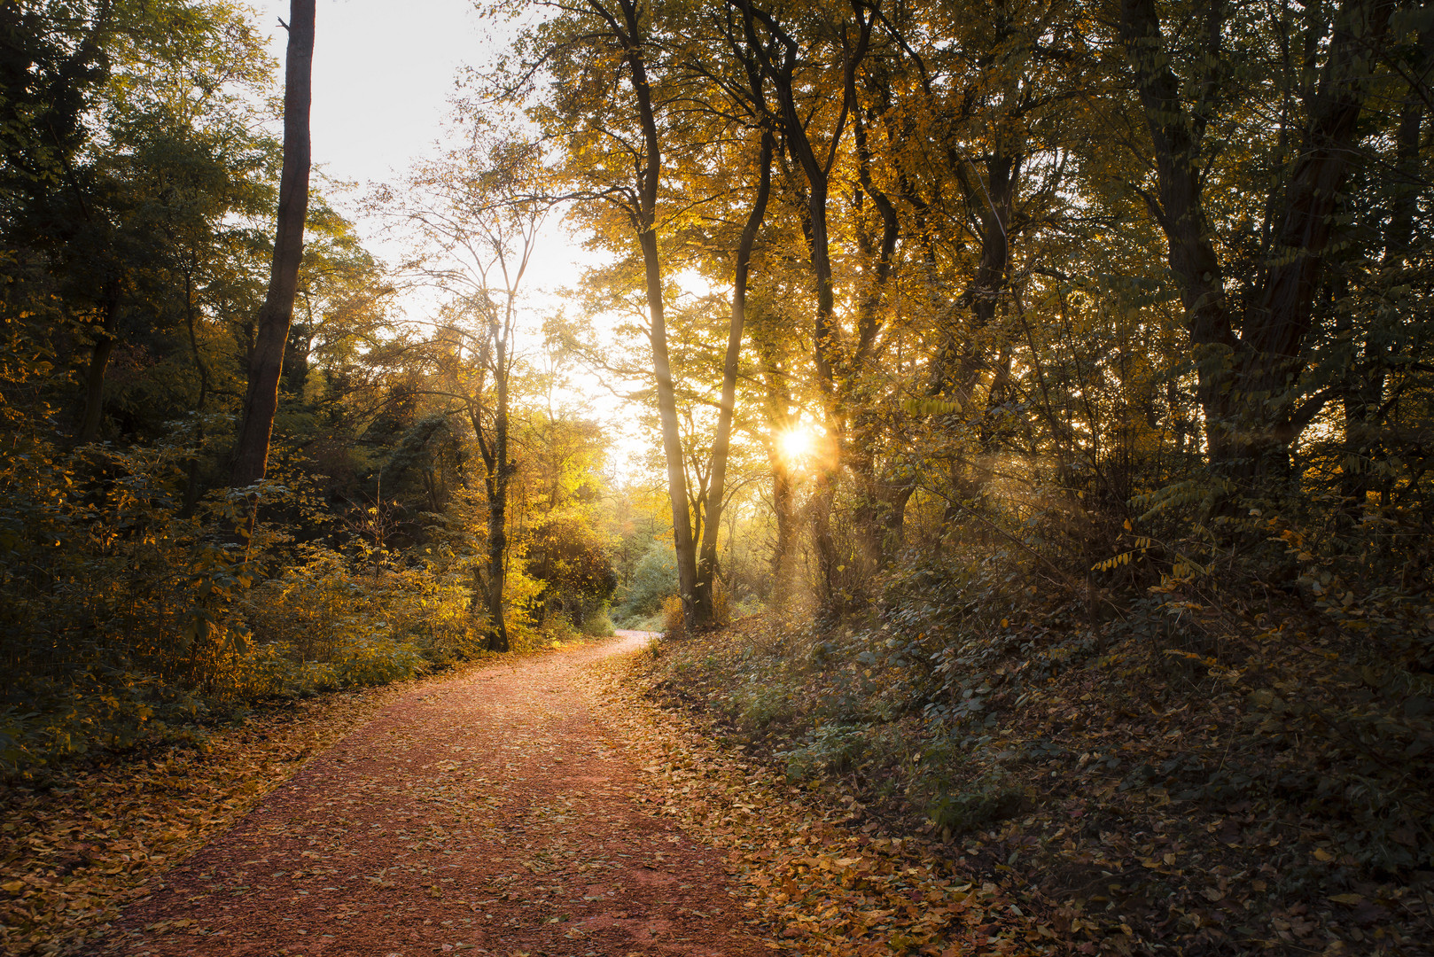
<path fill-rule="evenodd" d="M 0 898 L 0 950 L 47 953 L 96 938 L 146 881 L 407 690 L 327 694 L 218 730 L 204 749 L 73 765 L 49 791 L 4 789 L 0 868 L 16 880 L 0 884 L 9 897 Z"/>

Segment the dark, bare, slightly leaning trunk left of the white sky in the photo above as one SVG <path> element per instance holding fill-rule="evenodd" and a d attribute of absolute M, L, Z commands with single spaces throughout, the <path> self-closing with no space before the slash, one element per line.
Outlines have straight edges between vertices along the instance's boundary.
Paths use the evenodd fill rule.
<path fill-rule="evenodd" d="M 284 169 L 278 185 L 278 224 L 268 294 L 260 310 L 258 336 L 250 362 L 250 387 L 234 451 L 234 486 L 252 485 L 268 466 L 270 438 L 278 409 L 288 326 L 294 319 L 298 264 L 304 258 L 308 217 L 308 109 L 313 99 L 314 1 L 290 0 L 288 52 L 284 67 Z"/>

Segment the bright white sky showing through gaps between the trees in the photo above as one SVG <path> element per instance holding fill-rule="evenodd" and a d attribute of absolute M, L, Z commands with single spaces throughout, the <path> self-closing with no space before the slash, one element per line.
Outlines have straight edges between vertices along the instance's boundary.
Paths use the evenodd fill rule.
<path fill-rule="evenodd" d="M 278 20 L 288 20 L 288 0 L 258 0 L 254 7 L 282 70 L 287 34 Z M 459 70 L 482 66 L 499 49 L 488 26 L 467 0 L 318 0 L 310 115 L 314 164 L 331 179 L 358 184 L 357 195 L 333 201 L 383 260 L 396 261 L 403 250 L 380 235 L 379 222 L 363 218 L 356 201 L 367 184 L 394 181 L 416 158 L 439 149 Z M 551 307 L 552 290 L 576 281 L 582 255 L 562 230 L 549 231 L 525 280 L 536 310 Z M 424 310 L 423 297 L 409 303 L 410 314 Z M 536 324 L 538 317 L 532 320 Z M 631 416 L 605 390 L 589 383 L 582 393 L 599 418 L 628 430 Z M 638 471 L 642 445 L 635 436 L 617 442 L 612 466 L 618 476 Z"/>

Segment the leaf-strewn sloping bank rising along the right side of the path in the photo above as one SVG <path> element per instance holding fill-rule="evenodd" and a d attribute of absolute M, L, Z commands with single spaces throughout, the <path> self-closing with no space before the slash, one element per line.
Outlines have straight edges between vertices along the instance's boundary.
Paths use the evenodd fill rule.
<path fill-rule="evenodd" d="M 1292 623 L 1196 653 L 1129 620 L 961 640 L 754 616 L 632 680 L 862 834 L 1058 901 L 1022 946 L 1425 954 L 1430 699 L 1375 651 Z"/>

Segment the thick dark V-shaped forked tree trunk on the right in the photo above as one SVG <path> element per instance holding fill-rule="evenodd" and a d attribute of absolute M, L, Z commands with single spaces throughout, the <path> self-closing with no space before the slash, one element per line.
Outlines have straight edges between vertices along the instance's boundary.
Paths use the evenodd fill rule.
<path fill-rule="evenodd" d="M 1388 32 L 1392 7 L 1390 0 L 1345 0 L 1334 11 L 1325 63 L 1298 131 L 1298 158 L 1271 197 L 1268 265 L 1236 314 L 1226 298 L 1225 270 L 1203 199 L 1202 141 L 1222 79 L 1226 9 L 1212 4 L 1206 11 L 1200 53 L 1209 75 L 1197 86 L 1197 100 L 1187 106 L 1154 0 L 1121 3 L 1120 36 L 1154 148 L 1157 195 L 1149 205 L 1166 235 L 1170 270 L 1186 307 L 1209 462 L 1236 485 L 1282 478 L 1291 442 L 1325 402 L 1316 396 L 1293 405 L 1308 362 L 1324 254 L 1335 235 L 1332 214 L 1361 156 L 1358 118 L 1368 95 L 1368 72 L 1378 59 L 1371 50 Z"/>

